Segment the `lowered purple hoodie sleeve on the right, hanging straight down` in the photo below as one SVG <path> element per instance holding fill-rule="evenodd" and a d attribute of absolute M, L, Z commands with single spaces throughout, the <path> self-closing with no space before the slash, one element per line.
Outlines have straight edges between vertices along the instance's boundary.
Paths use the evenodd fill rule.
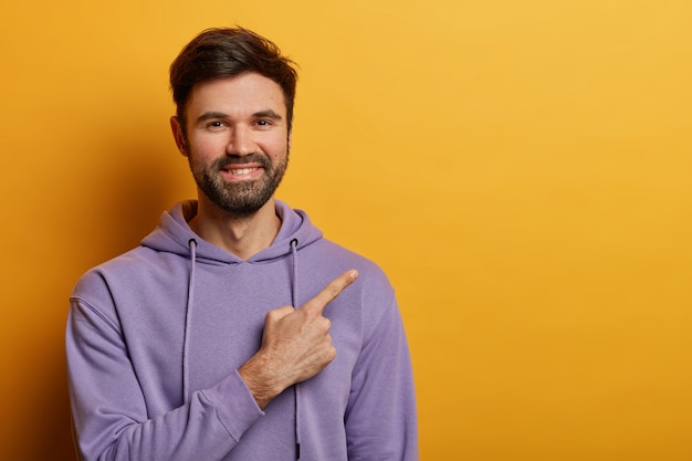
<path fill-rule="evenodd" d="M 391 292 L 390 292 L 391 293 Z M 346 411 L 349 461 L 418 460 L 411 360 L 394 293 L 366 326 Z M 366 314 L 366 322 L 367 322 Z"/>

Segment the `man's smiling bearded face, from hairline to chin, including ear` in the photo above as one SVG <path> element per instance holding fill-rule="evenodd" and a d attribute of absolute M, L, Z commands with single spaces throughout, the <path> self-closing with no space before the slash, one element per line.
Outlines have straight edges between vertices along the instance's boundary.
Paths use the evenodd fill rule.
<path fill-rule="evenodd" d="M 234 216 L 256 212 L 274 195 L 289 164 L 286 106 L 281 86 L 256 73 L 195 85 L 186 107 L 188 157 L 200 200 Z"/>

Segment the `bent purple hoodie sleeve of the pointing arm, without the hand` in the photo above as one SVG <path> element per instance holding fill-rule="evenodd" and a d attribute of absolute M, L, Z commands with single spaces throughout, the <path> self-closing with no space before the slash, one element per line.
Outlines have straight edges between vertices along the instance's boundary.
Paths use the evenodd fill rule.
<path fill-rule="evenodd" d="M 81 459 L 220 460 L 263 412 L 238 373 L 148 417 L 114 318 L 72 298 L 66 328 L 70 395 Z"/>

